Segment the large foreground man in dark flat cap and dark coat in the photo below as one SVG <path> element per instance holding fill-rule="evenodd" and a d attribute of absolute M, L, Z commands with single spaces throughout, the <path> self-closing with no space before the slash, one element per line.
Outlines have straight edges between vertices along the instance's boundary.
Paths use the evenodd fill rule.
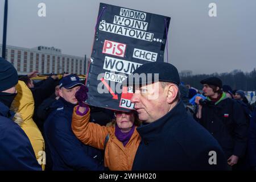
<path fill-rule="evenodd" d="M 134 86 L 131 102 L 143 121 L 133 170 L 226 169 L 217 140 L 187 114 L 179 84 L 177 69 L 168 63 L 144 64 L 123 82 Z"/>

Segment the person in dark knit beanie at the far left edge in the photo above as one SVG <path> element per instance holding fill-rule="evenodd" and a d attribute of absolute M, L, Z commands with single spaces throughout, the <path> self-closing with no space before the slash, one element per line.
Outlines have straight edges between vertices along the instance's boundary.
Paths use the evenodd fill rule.
<path fill-rule="evenodd" d="M 18 73 L 0 57 L 0 171 L 41 171 L 30 140 L 13 121 L 10 106 L 17 94 Z"/>

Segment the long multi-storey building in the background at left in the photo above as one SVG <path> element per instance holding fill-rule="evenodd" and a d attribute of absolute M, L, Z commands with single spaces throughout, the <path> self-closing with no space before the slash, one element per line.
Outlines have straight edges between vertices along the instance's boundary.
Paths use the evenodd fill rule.
<path fill-rule="evenodd" d="M 2 44 L 0 44 L 0 52 L 2 52 Z M 68 72 L 85 75 L 88 69 L 86 55 L 85 57 L 64 55 L 61 49 L 46 46 L 31 49 L 6 46 L 6 60 L 14 65 L 19 75 L 27 75 L 32 71 L 38 71 L 40 74 Z"/>

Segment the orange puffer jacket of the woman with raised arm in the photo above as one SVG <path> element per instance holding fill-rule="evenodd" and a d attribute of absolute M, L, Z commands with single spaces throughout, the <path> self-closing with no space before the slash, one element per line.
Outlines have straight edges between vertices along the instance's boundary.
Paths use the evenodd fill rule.
<path fill-rule="evenodd" d="M 77 106 L 73 111 L 72 130 L 76 137 L 84 144 L 104 149 L 106 136 L 109 134 L 108 143 L 105 146 L 105 167 L 112 171 L 130 171 L 133 167 L 133 160 L 141 142 L 137 130 L 134 130 L 126 146 L 115 137 L 114 126 L 100 126 L 96 123 L 89 122 L 90 111 L 80 116 L 76 114 Z"/>

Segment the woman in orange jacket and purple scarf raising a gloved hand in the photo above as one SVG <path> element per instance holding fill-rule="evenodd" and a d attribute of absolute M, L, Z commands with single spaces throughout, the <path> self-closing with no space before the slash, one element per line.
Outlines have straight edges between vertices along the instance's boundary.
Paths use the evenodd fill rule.
<path fill-rule="evenodd" d="M 130 171 L 133 160 L 141 142 L 136 127 L 139 121 L 134 112 L 115 111 L 114 126 L 100 126 L 89 122 L 90 109 L 84 104 L 88 92 L 81 86 L 76 93 L 79 106 L 73 111 L 72 130 L 76 137 L 84 144 L 105 150 L 105 167 L 110 170 Z"/>

